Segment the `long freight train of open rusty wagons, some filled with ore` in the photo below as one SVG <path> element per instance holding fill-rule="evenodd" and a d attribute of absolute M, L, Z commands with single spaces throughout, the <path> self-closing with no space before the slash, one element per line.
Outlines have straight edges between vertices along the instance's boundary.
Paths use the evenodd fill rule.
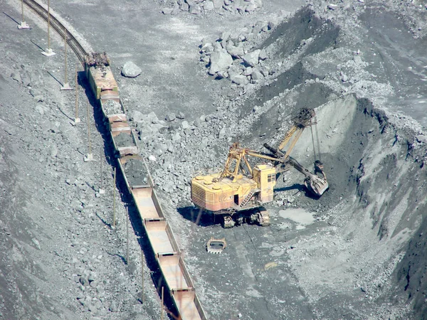
<path fill-rule="evenodd" d="M 152 177 L 144 159 L 139 156 L 135 133 L 127 121 L 110 59 L 105 53 L 86 55 L 85 74 L 110 131 L 117 153 L 117 165 L 135 202 L 169 297 L 178 311 L 176 319 L 206 320 L 174 234 L 154 190 Z M 160 292 L 160 288 L 157 289 Z"/>

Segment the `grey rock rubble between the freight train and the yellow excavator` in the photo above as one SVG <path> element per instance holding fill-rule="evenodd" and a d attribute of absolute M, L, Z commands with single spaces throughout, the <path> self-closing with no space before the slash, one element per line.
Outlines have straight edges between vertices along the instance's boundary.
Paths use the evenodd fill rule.
<path fill-rule="evenodd" d="M 171 112 L 164 119 L 158 119 L 154 112 L 132 112 L 139 149 L 148 160 L 154 183 L 175 205 L 189 201 L 190 177 L 200 164 L 206 168 L 223 165 L 233 119 L 221 114 L 202 115 L 189 121 L 183 112 Z M 221 154 L 213 152 L 213 146 Z"/>

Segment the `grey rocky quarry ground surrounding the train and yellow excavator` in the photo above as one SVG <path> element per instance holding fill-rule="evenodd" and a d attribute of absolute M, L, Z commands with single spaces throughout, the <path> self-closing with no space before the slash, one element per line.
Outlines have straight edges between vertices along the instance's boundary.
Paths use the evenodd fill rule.
<path fill-rule="evenodd" d="M 213 9 L 208 2 L 102 1 L 100 5 L 94 0 L 70 5 L 58 1 L 55 10 L 90 46 L 106 50 L 112 58 L 120 96 L 139 131 L 142 156 L 149 163 L 209 319 L 236 319 L 239 314 L 243 319 L 423 318 L 427 212 L 423 191 L 427 159 L 424 4 L 263 1 L 261 7 L 257 2 L 256 9 L 244 12 L 239 9 L 240 1 L 224 1 L 220 6 L 212 1 Z M 19 16 L 11 6 L 2 6 L 9 16 Z M 115 319 L 157 319 L 158 296 L 152 288 L 149 291 L 147 286 L 150 308 L 138 302 L 140 280 L 135 270 L 140 266 L 135 262 L 132 271 L 132 264 L 127 267 L 122 261 L 123 220 L 114 231 L 106 226 L 111 223 L 111 206 L 105 204 L 105 196 L 96 195 L 99 168 L 81 160 L 87 153 L 85 131 L 70 126 L 64 115 L 73 114 L 73 97 L 53 90 L 58 82 L 51 75 L 62 79 L 60 56 L 46 60 L 39 55 L 31 43 L 31 39 L 37 39 L 33 42 L 39 46 L 43 43 L 43 31 L 37 27 L 31 33 L 19 33 L 8 16 L 1 23 L 11 30 L 0 42 L 6 56 L 1 81 L 15 87 L 1 95 L 2 105 L 10 106 L 0 114 L 7 123 L 1 139 L 1 182 L 21 181 L 12 183 L 18 192 L 2 186 L 3 208 L 15 209 L 4 212 L 16 214 L 4 213 L 0 221 L 5 230 L 1 236 L 15 243 L 7 249 L 14 254 L 1 257 L 1 272 L 8 277 L 0 284 L 9 286 L 8 295 L 2 294 L 3 303 L 13 304 L 16 311 L 2 306 L 1 312 L 6 319 L 31 313 L 46 318 L 64 306 L 83 318 L 98 313 Z M 15 34 L 20 41 L 12 41 Z M 58 53 L 59 43 L 54 47 Z M 29 46 L 25 55 L 18 56 L 24 46 Z M 127 60 L 142 68 L 139 77 L 120 75 Z M 9 77 L 11 73 L 15 76 Z M 21 80 L 14 79 L 17 74 Z M 31 90 L 27 78 L 33 82 Z M 20 95 L 14 94 L 12 100 L 14 91 Z M 25 107 L 25 112 L 19 107 Z M 330 190 L 312 199 L 305 193 L 300 174 L 290 171 L 280 179 L 275 201 L 268 205 L 269 228 L 243 225 L 224 230 L 209 216 L 202 216 L 196 225 L 198 211 L 189 201 L 191 177 L 220 170 L 228 146 L 236 139 L 256 150 L 261 150 L 263 142 L 277 144 L 290 126 L 289 114 L 301 107 L 317 108 Z M 99 119 L 96 112 L 95 119 Z M 97 128 L 105 134 L 102 126 Z M 101 149 L 102 137 L 99 132 L 94 135 L 94 144 Z M 19 156 L 4 151 L 9 149 Z M 312 168 L 309 130 L 292 156 Z M 47 180 L 51 175 L 56 179 Z M 46 181 L 44 188 L 40 188 L 41 181 Z M 52 196 L 57 193 L 63 200 L 60 205 Z M 16 201 L 22 203 L 22 210 L 11 207 Z M 124 217 L 122 204 L 120 210 Z M 48 223 L 33 218 L 34 212 L 43 213 L 38 215 Z M 51 213 L 47 216 L 46 212 Z M 27 216 L 35 220 L 31 229 Z M 71 227 L 58 233 L 65 217 Z M 19 221 L 25 227 L 12 224 Z M 132 222 L 139 235 L 137 223 Z M 34 231 L 37 224 L 42 233 Z M 204 246 L 211 236 L 226 238 L 223 254 L 206 252 Z M 83 253 L 73 253 L 82 251 L 79 245 L 73 246 L 75 238 L 85 239 L 80 242 Z M 41 264 L 40 252 L 21 253 L 22 258 L 16 253 L 28 245 L 38 250 L 37 243 L 46 255 L 42 261 L 56 262 L 43 264 L 43 275 L 37 267 L 24 267 Z M 58 243 L 65 245 L 54 249 Z M 132 261 L 139 261 L 136 241 L 132 248 Z M 99 255 L 102 263 L 97 262 Z M 10 277 L 9 265 L 14 266 Z M 104 301 L 90 285 L 84 292 L 81 289 L 90 272 L 110 279 L 102 282 Z M 60 274 L 60 281 L 46 274 Z M 24 292 L 31 299 L 22 298 L 28 303 L 18 305 L 14 302 L 24 293 L 16 288 L 25 287 L 23 281 L 35 281 L 31 287 L 40 289 L 38 295 Z M 46 286 L 52 284 L 55 289 L 47 297 Z M 120 313 L 112 314 L 107 310 L 119 292 L 129 294 L 120 294 L 116 310 Z M 97 309 L 89 313 L 91 308 Z"/>

